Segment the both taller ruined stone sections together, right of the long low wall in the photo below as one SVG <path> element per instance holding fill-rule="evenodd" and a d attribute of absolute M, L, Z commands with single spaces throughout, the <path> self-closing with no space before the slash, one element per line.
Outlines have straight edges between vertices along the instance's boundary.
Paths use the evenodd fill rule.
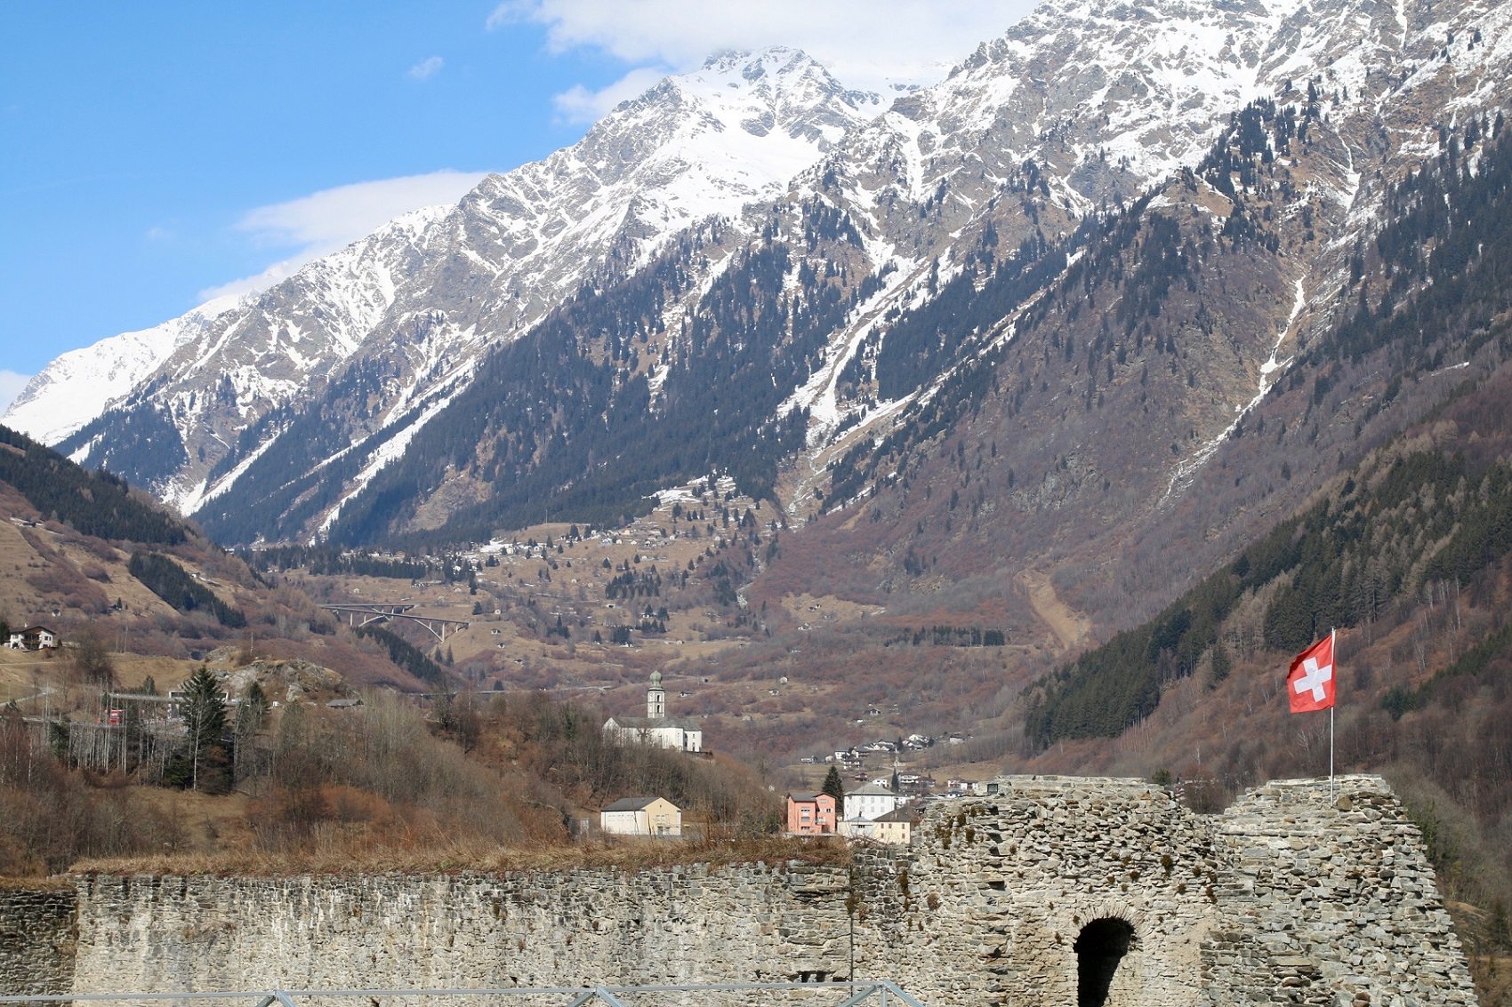
<path fill-rule="evenodd" d="M 1077 939 L 1114 919 L 1108 1007 L 1474 1004 L 1400 801 L 1374 776 L 1335 797 L 1276 782 L 1204 816 L 1143 780 L 1005 777 L 860 857 L 857 969 L 927 1004 L 1074 1004 Z"/>

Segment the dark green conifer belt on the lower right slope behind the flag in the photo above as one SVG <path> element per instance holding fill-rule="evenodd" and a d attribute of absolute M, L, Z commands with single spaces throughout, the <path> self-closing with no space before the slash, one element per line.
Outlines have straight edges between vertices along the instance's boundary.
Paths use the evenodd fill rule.
<path fill-rule="evenodd" d="M 1173 602 L 1060 668 L 1027 712 L 1030 739 L 1116 736 L 1154 712 L 1161 688 L 1232 655 L 1220 631 L 1269 591 L 1264 644 L 1282 661 L 1331 629 L 1380 618 L 1438 584 L 1470 584 L 1512 552 L 1512 467 L 1412 452 L 1347 476 L 1340 493 L 1282 522 Z"/>

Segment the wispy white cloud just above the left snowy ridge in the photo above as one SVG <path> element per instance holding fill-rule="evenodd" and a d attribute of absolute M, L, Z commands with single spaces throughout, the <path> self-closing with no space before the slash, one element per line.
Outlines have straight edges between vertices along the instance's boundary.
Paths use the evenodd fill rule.
<path fill-rule="evenodd" d="M 293 248 L 262 272 L 231 280 L 200 292 L 200 299 L 266 290 L 299 271 L 311 259 L 327 256 L 370 234 L 393 218 L 426 206 L 446 206 L 461 200 L 482 181 L 481 171 L 432 171 L 378 181 L 322 189 L 287 203 L 248 210 L 236 230 L 268 248 Z"/>

